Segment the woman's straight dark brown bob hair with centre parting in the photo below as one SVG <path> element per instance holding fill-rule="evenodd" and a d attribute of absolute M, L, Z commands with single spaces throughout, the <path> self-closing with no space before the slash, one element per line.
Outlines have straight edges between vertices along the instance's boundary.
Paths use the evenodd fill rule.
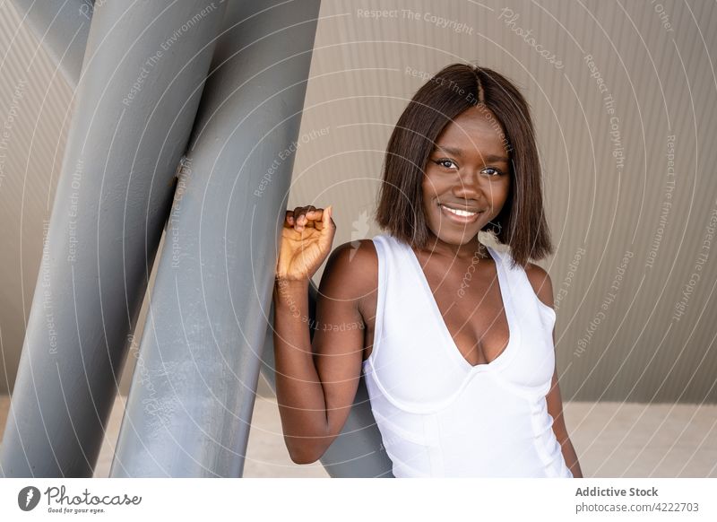
<path fill-rule="evenodd" d="M 553 253 L 543 211 L 540 159 L 528 103 L 518 89 L 486 67 L 448 65 L 425 83 L 403 110 L 386 147 L 376 222 L 393 237 L 426 248 L 429 231 L 421 188 L 428 157 L 449 122 L 482 106 L 497 119 L 510 162 L 510 193 L 483 231 L 510 248 L 512 264 Z"/>

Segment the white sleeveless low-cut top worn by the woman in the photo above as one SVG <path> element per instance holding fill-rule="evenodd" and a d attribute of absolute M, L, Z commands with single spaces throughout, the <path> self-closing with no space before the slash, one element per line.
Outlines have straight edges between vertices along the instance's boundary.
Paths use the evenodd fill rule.
<path fill-rule="evenodd" d="M 371 410 L 396 477 L 566 477 L 547 409 L 555 311 L 522 267 L 488 248 L 510 337 L 489 364 L 466 361 L 419 259 L 388 234 L 378 255 L 376 328 L 363 362 Z"/>

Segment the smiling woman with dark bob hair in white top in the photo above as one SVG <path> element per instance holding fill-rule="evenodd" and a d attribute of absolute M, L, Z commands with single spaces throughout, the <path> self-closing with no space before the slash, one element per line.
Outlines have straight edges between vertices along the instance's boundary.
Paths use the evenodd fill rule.
<path fill-rule="evenodd" d="M 386 150 L 376 221 L 387 233 L 333 251 L 313 340 L 308 278 L 331 251 L 333 210 L 286 213 L 274 352 L 295 462 L 341 432 L 363 374 L 397 477 L 582 476 L 549 275 L 528 262 L 552 252 L 533 135 L 523 96 L 494 71 L 454 64 L 425 83 Z"/>

